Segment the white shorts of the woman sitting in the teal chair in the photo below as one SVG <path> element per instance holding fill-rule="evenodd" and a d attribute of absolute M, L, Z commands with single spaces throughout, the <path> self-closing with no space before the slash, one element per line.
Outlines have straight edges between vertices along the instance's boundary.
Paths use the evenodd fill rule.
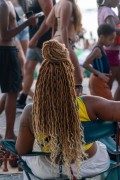
<path fill-rule="evenodd" d="M 106 146 L 99 141 L 97 141 L 96 144 L 96 154 L 92 158 L 85 160 L 80 167 L 81 177 L 95 175 L 109 168 L 110 159 L 106 150 Z M 37 177 L 44 179 L 58 176 L 59 166 L 51 166 L 51 162 L 45 156 L 23 157 L 23 159 L 26 161 L 33 174 L 35 174 Z M 71 164 L 71 168 L 74 176 L 77 177 L 77 169 L 75 164 Z M 66 174 L 64 167 L 63 174 Z M 25 174 L 24 180 L 27 180 Z M 32 177 L 32 180 L 35 180 L 35 178 Z"/>

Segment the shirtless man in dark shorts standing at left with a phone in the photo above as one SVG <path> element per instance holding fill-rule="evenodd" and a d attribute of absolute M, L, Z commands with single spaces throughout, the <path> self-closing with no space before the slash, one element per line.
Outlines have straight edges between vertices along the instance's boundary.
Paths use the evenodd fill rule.
<path fill-rule="evenodd" d="M 16 139 L 14 122 L 16 98 L 21 86 L 21 71 L 15 36 L 26 26 L 35 25 L 37 16 L 32 16 L 20 26 L 16 26 L 14 6 L 8 0 L 0 0 L 0 87 L 6 93 L 0 101 L 0 112 L 5 107 L 5 139 Z"/>

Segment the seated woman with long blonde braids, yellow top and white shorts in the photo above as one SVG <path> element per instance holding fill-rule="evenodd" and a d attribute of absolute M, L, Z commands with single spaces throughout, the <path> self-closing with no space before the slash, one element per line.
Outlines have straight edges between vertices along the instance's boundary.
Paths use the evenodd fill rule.
<path fill-rule="evenodd" d="M 42 55 L 33 105 L 28 105 L 22 114 L 17 152 L 22 155 L 32 152 L 34 142 L 39 150 L 51 152 L 47 157 L 24 158 L 41 178 L 58 175 L 59 154 L 64 174 L 71 176 L 70 169 L 75 177 L 103 172 L 110 163 L 106 147 L 100 142 L 85 145 L 80 121 L 97 118 L 119 121 L 120 102 L 97 96 L 76 98 L 74 68 L 64 44 L 47 41 Z"/>

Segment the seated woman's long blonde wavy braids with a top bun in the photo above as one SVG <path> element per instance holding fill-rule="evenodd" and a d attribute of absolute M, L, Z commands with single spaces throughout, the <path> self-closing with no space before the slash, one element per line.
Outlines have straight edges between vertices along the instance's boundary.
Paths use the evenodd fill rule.
<path fill-rule="evenodd" d="M 70 168 L 72 160 L 79 166 L 84 159 L 83 131 L 76 108 L 74 68 L 68 50 L 56 40 L 44 43 L 44 61 L 36 83 L 33 103 L 33 130 L 38 144 L 40 134 L 50 137 L 51 161 L 59 153 Z"/>

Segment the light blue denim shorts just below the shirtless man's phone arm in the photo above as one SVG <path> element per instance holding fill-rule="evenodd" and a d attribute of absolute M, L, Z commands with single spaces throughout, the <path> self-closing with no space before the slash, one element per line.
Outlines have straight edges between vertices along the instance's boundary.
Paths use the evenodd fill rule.
<path fill-rule="evenodd" d="M 19 20 L 18 25 L 23 24 L 24 21 L 25 20 L 23 20 L 23 19 Z M 29 41 L 29 27 L 26 27 L 19 34 L 17 34 L 16 41 L 21 41 L 21 40 Z"/>

